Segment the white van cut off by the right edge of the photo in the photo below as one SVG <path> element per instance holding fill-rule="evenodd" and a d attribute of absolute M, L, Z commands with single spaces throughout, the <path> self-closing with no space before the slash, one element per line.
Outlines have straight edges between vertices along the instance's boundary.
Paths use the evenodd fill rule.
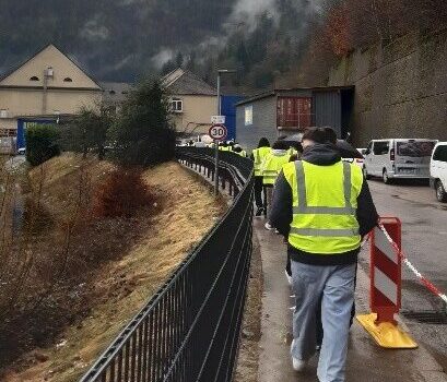
<path fill-rule="evenodd" d="M 439 202 L 447 202 L 447 142 L 439 142 L 430 163 L 430 184 Z"/>

